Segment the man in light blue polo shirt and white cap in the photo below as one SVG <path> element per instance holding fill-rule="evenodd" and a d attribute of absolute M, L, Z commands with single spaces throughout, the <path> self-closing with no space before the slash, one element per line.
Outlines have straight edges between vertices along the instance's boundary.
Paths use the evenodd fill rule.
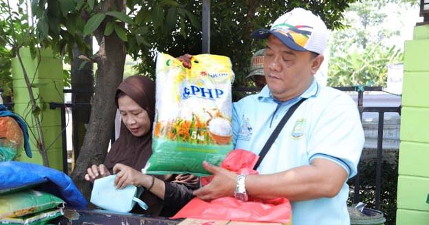
<path fill-rule="evenodd" d="M 234 103 L 236 149 L 259 154 L 286 111 L 302 98 L 258 167 L 261 175 L 236 175 L 203 162 L 214 174 L 210 184 L 194 192 L 203 200 L 223 196 L 287 197 L 292 224 L 350 224 L 349 186 L 364 144 L 358 109 L 346 94 L 321 87 L 314 74 L 323 61 L 328 30 L 313 13 L 297 8 L 257 30 L 267 39 L 259 94 Z"/>

